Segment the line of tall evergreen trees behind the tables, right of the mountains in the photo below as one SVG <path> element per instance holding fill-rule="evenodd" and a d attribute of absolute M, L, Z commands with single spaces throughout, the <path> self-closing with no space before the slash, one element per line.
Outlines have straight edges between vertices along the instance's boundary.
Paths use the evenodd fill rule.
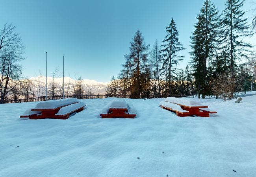
<path fill-rule="evenodd" d="M 243 3 L 226 0 L 225 9 L 219 12 L 211 0 L 204 1 L 190 37 L 191 59 L 184 69 L 177 67 L 185 48 L 173 18 L 162 44 L 156 41 L 150 52 L 142 33 L 136 31 L 123 69 L 117 79 L 111 79 L 106 94 L 132 98 L 197 94 L 198 98 L 231 99 L 234 92 L 255 90 L 255 51 L 245 38 L 254 34 L 256 16 L 250 25 Z"/>

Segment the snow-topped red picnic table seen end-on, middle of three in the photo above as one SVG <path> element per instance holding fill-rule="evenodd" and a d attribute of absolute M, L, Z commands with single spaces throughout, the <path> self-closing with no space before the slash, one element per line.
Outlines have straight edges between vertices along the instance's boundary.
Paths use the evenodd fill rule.
<path fill-rule="evenodd" d="M 124 99 L 114 99 L 106 105 L 100 113 L 102 118 L 135 118 L 136 114 L 131 109 L 132 105 Z"/>

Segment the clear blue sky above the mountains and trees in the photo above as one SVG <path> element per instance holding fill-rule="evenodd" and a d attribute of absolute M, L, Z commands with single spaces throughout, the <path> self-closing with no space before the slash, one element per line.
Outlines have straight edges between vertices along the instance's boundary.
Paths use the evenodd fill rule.
<path fill-rule="evenodd" d="M 225 0 L 212 0 L 222 11 Z M 252 20 L 252 1 L 245 0 L 246 17 Z M 54 68 L 65 76 L 82 76 L 106 82 L 118 76 L 124 54 L 138 29 L 146 44 L 160 44 L 171 18 L 177 24 L 180 42 L 187 48 L 181 54 L 189 61 L 190 35 L 204 0 L 0 0 L 0 28 L 6 22 L 17 26 L 25 44 L 26 60 L 22 74 L 37 76 L 39 68 L 45 75 L 45 52 L 48 72 Z"/>

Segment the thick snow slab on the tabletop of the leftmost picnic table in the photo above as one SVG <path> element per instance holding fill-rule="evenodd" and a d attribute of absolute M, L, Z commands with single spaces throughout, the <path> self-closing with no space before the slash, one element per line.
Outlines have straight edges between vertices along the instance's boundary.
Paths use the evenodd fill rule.
<path fill-rule="evenodd" d="M 65 105 L 69 105 L 72 103 L 78 103 L 77 98 L 65 98 L 60 100 L 49 100 L 49 101 L 41 101 L 37 103 L 37 106 L 34 109 L 56 109 L 58 107 L 62 107 Z"/>

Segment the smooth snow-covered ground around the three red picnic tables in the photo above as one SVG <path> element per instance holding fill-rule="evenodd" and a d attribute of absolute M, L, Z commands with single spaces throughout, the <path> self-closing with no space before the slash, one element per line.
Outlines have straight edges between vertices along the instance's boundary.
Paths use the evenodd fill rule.
<path fill-rule="evenodd" d="M 158 107 L 164 99 L 126 99 L 135 119 L 101 119 L 112 99 L 80 100 L 87 108 L 67 120 L 20 120 L 36 102 L 0 105 L 0 176 L 256 175 L 256 96 L 191 99 L 218 112 L 210 118 L 177 117 Z"/>

